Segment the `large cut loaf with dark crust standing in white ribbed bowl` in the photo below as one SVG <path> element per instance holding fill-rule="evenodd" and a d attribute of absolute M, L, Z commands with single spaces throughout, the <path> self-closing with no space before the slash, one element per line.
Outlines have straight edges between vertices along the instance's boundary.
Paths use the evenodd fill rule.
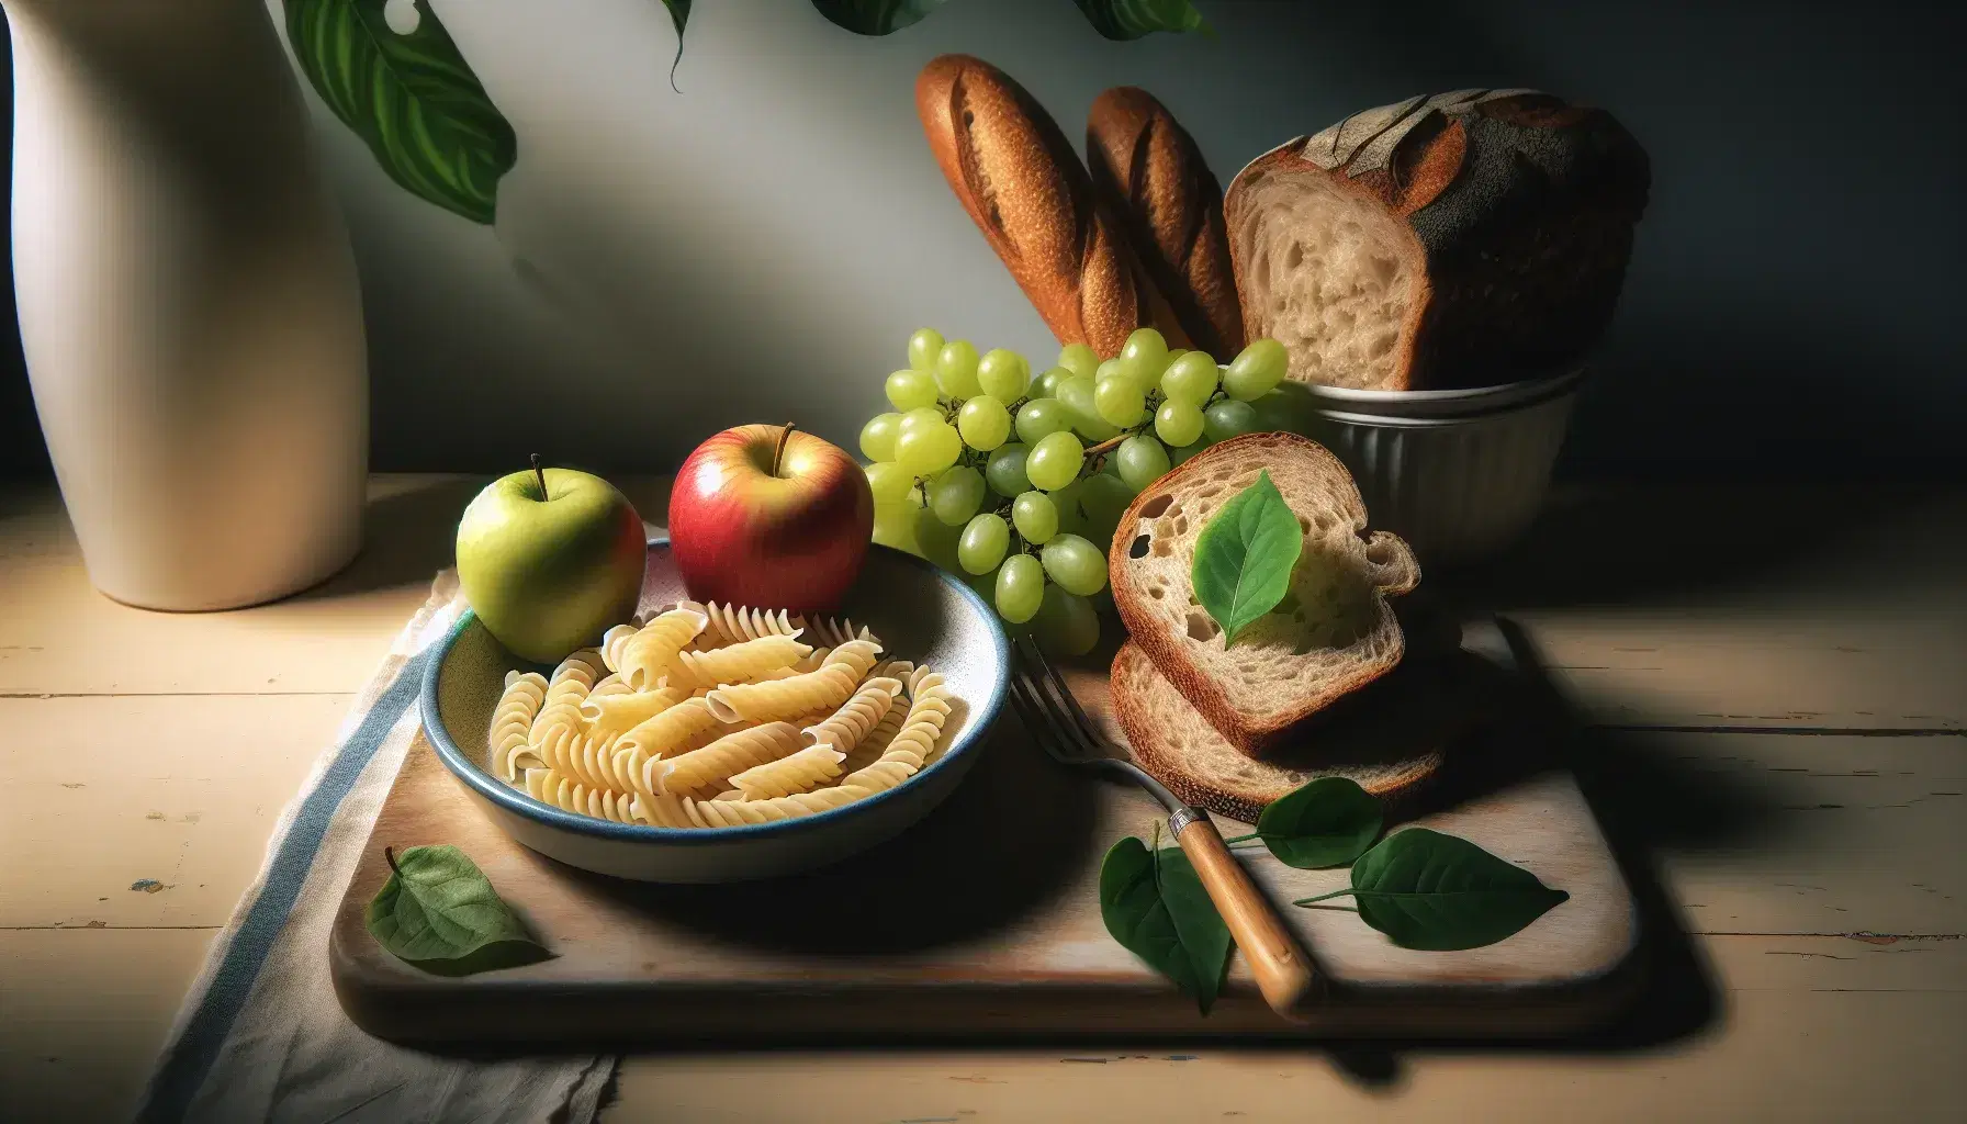
<path fill-rule="evenodd" d="M 1245 331 L 1355 390 L 1564 370 L 1611 321 L 1648 183 L 1611 114 L 1536 91 L 1353 114 L 1229 183 Z"/>

